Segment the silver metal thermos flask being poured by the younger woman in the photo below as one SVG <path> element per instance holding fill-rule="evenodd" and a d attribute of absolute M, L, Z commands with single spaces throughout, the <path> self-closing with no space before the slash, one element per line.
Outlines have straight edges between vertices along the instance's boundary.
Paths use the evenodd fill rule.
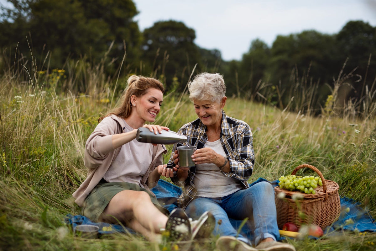
<path fill-rule="evenodd" d="M 136 140 L 144 143 L 167 145 L 179 142 L 184 143 L 187 141 L 187 137 L 171 130 L 162 130 L 162 133 L 157 132 L 157 134 L 154 134 L 154 132 L 150 132 L 149 128 L 140 127 L 137 129 Z"/>

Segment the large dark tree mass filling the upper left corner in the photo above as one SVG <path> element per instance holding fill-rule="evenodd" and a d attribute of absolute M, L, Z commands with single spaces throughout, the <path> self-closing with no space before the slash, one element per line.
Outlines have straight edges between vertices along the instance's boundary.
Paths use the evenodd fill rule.
<path fill-rule="evenodd" d="M 37 59 L 50 51 L 51 67 L 61 67 L 68 58 L 88 56 L 93 62 L 109 52 L 112 70 L 127 59 L 138 59 L 141 34 L 133 17 L 138 14 L 131 0 L 8 0 L 0 20 L 0 47 L 15 48 Z M 27 40 L 26 40 L 27 38 Z M 43 52 L 44 51 L 44 52 Z M 43 60 L 41 58 L 40 60 Z M 111 67 L 107 67 L 107 70 Z"/>

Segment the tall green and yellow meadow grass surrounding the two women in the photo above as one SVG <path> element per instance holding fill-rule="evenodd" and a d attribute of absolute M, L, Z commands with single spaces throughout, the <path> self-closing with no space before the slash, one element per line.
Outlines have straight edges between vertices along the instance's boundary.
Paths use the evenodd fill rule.
<path fill-rule="evenodd" d="M 83 147 L 100 113 L 115 105 L 124 79 L 114 90 L 110 83 L 117 76 L 105 76 L 103 65 L 77 61 L 66 72 L 47 69 L 47 74 L 23 63 L 8 64 L 0 76 L 0 249 L 170 250 L 124 234 L 81 239 L 63 222 L 68 213 L 80 214 L 71 194 L 86 177 Z M 79 79 L 90 87 L 86 93 L 71 90 Z M 256 165 L 249 182 L 259 177 L 276 180 L 308 163 L 339 184 L 340 196 L 361 202 L 375 217 L 376 100 L 368 91 L 367 114 L 352 116 L 351 104 L 338 113 L 336 94 L 334 88 L 320 117 L 236 97 L 227 99 L 225 112 L 252 127 Z M 297 99 L 303 104 L 306 97 L 302 93 Z M 167 93 L 155 123 L 177 131 L 196 119 L 192 106 L 186 95 Z M 194 249 L 214 250 L 214 241 Z M 288 241 L 297 250 L 371 250 L 376 236 L 338 233 L 320 241 Z"/>

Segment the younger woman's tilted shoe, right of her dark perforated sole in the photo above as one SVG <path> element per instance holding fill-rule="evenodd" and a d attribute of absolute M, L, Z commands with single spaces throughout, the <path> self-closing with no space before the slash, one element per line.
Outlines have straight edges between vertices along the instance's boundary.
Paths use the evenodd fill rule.
<path fill-rule="evenodd" d="M 215 218 L 209 211 L 203 213 L 197 221 L 192 222 L 192 240 L 208 238 L 215 227 Z"/>

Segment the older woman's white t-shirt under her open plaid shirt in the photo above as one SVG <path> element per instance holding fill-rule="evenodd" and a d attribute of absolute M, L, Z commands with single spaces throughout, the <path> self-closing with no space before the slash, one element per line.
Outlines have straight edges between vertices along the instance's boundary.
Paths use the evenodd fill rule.
<path fill-rule="evenodd" d="M 217 154 L 226 156 L 221 140 L 207 141 L 205 147 L 213 149 Z M 196 195 L 206 198 L 223 197 L 242 189 L 240 183 L 224 176 L 215 164 L 198 164 L 193 183 L 197 188 Z"/>

